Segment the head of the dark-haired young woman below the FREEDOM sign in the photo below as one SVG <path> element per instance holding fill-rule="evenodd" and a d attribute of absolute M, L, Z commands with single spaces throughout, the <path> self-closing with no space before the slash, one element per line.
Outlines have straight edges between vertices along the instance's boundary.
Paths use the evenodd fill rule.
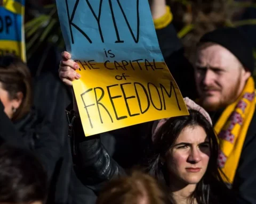
<path fill-rule="evenodd" d="M 192 196 L 198 201 L 206 196 L 208 184 L 221 180 L 214 130 L 211 123 L 193 109 L 189 110 L 187 116 L 166 120 L 148 151 L 149 173 L 165 182 L 173 191 L 194 186 Z"/>

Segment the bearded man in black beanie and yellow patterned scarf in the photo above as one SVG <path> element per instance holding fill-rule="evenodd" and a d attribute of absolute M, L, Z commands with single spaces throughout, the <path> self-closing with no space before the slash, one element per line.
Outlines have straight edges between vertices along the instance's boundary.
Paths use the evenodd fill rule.
<path fill-rule="evenodd" d="M 224 179 L 246 203 L 256 203 L 253 69 L 252 47 L 238 29 L 217 29 L 201 38 L 195 63 L 197 102 L 212 116 Z"/>

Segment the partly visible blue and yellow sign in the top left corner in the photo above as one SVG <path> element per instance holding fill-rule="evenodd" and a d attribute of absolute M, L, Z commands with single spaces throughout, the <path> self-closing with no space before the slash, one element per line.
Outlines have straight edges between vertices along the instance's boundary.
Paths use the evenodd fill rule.
<path fill-rule="evenodd" d="M 0 1 L 0 55 L 13 54 L 26 62 L 24 13 L 25 0 Z"/>

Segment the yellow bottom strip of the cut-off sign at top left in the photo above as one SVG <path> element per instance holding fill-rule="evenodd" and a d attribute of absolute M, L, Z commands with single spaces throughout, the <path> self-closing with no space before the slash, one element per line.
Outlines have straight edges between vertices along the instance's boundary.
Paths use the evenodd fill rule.
<path fill-rule="evenodd" d="M 13 54 L 26 62 L 25 43 L 12 40 L 0 40 L 0 55 Z"/>

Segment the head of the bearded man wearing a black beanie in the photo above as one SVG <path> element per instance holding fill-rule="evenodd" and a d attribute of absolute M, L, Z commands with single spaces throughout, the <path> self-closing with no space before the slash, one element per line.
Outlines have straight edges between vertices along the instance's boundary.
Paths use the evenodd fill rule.
<path fill-rule="evenodd" d="M 200 40 L 195 80 L 202 106 L 215 111 L 241 95 L 254 68 L 252 47 L 235 28 L 217 29 Z"/>

